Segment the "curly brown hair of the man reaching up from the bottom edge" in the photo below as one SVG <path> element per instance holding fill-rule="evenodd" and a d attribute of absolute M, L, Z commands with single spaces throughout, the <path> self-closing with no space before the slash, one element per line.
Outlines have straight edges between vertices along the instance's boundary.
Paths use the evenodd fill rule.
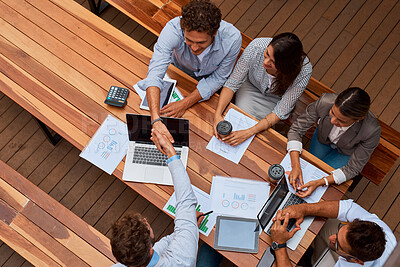
<path fill-rule="evenodd" d="M 112 225 L 111 248 L 114 257 L 126 266 L 141 266 L 150 259 L 150 229 L 143 217 L 127 213 Z"/>

